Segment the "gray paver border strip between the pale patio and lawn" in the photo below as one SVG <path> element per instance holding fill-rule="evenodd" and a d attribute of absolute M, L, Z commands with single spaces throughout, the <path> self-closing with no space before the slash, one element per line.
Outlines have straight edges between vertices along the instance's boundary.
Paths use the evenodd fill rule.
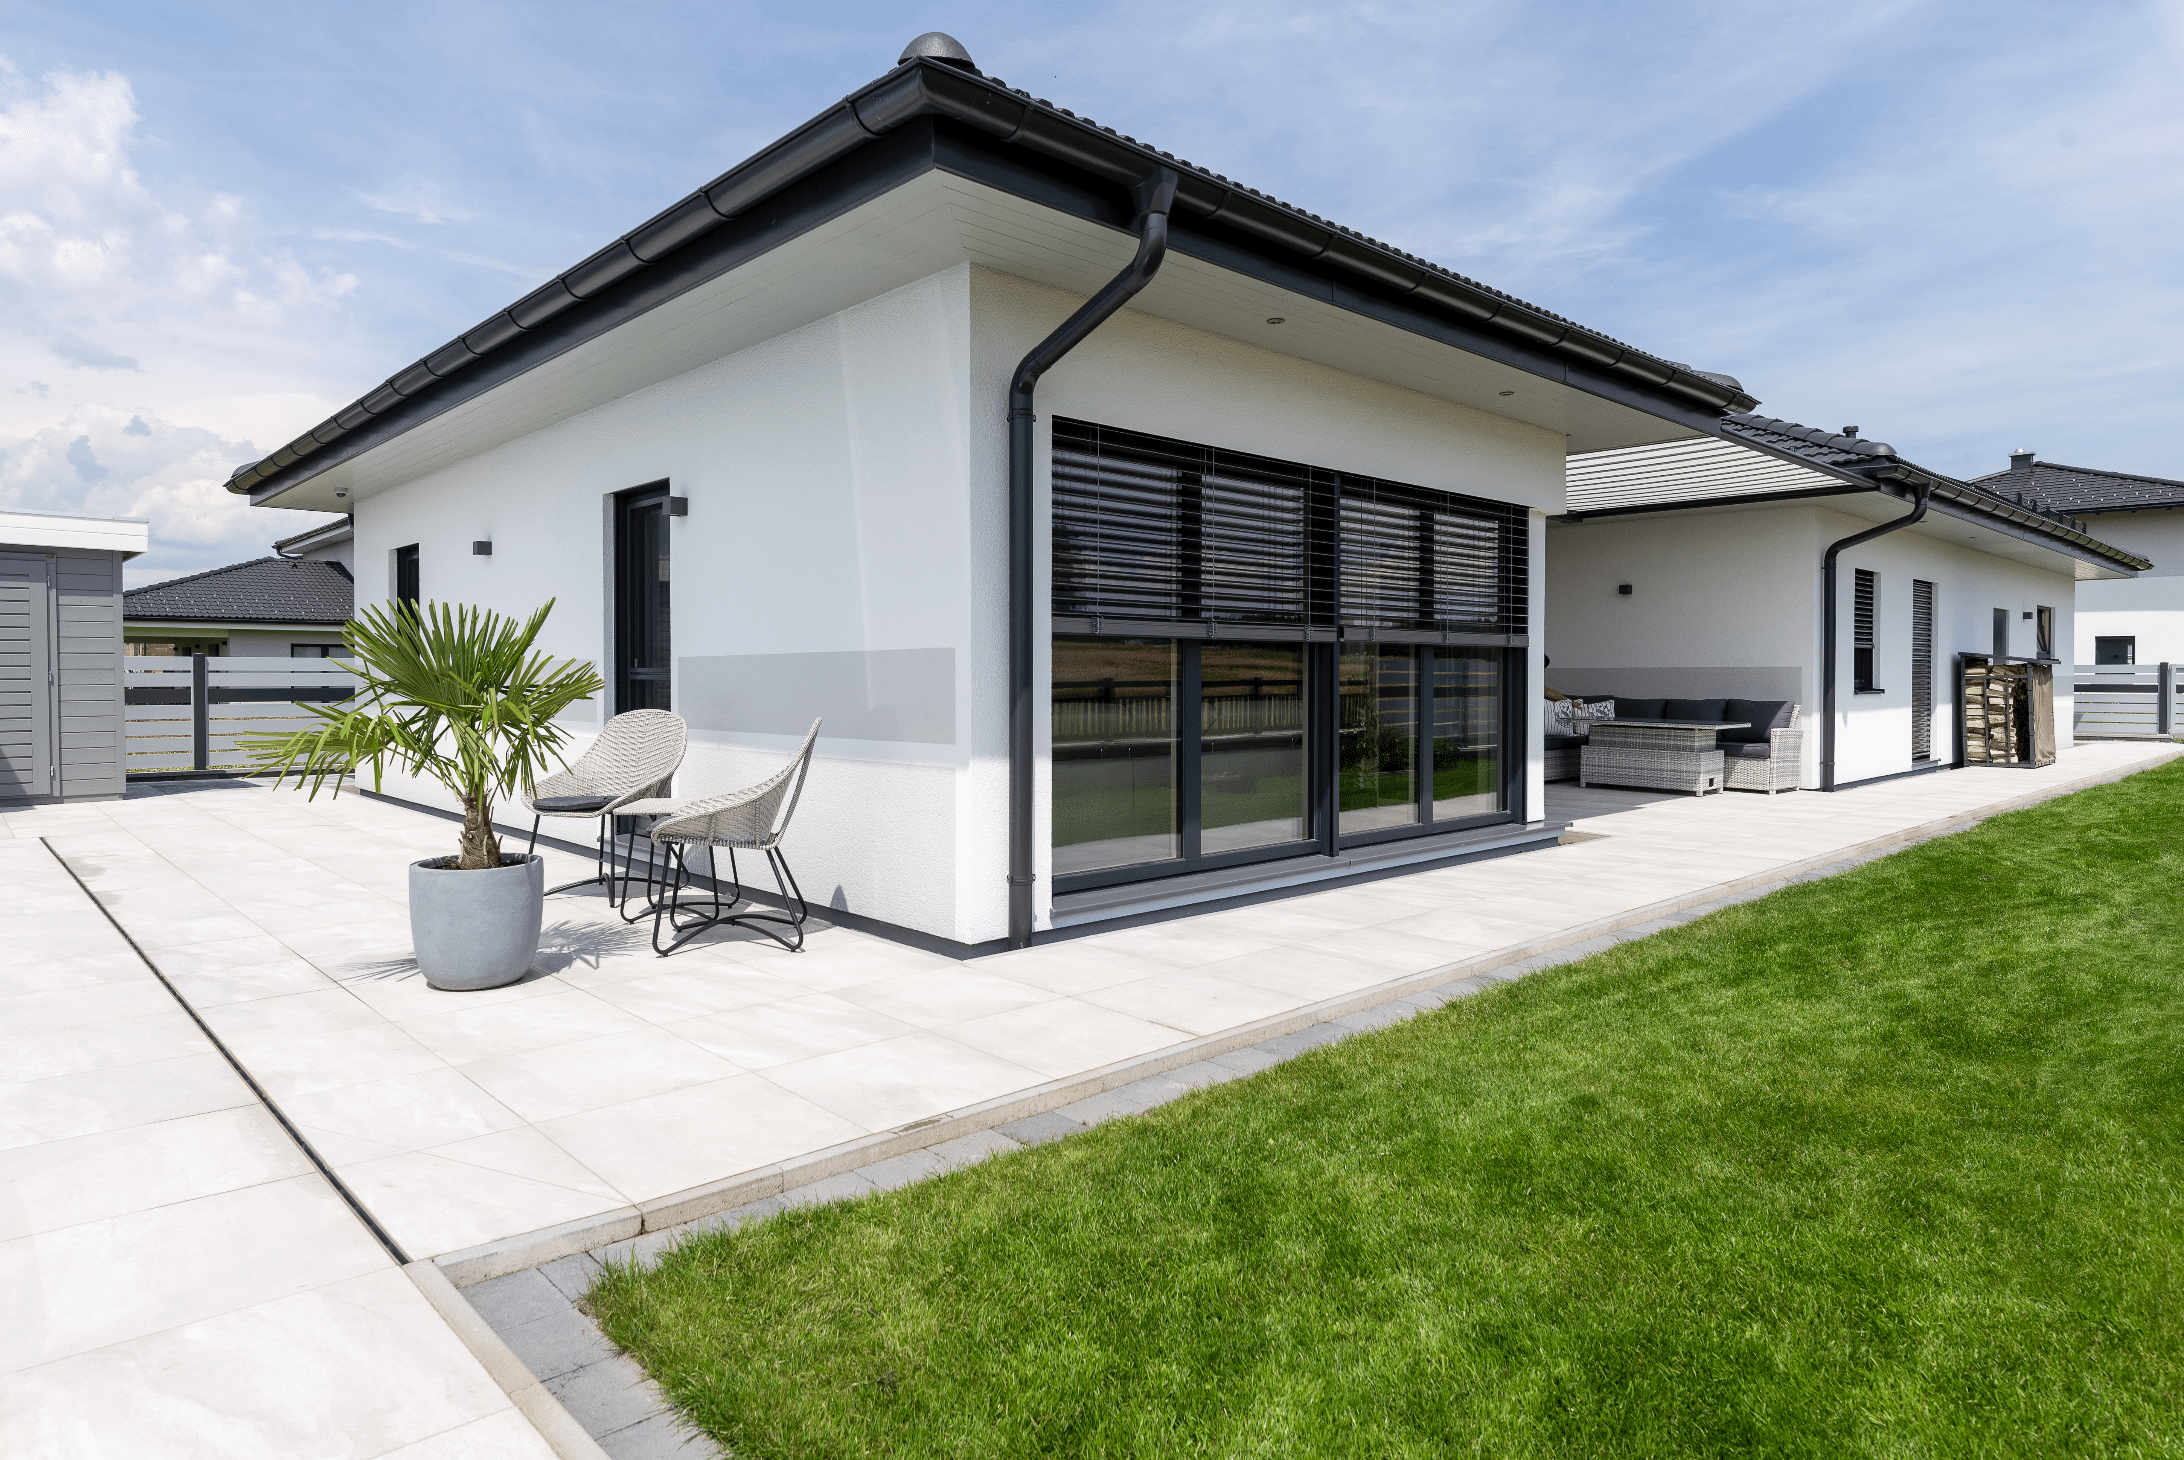
<path fill-rule="evenodd" d="M 2153 765 L 2160 763 L 2162 761 L 2156 761 Z M 651 1265 L 670 1246 L 692 1235 L 723 1228 L 732 1231 L 745 1222 L 760 1222 L 778 1211 L 788 1211 L 791 1206 L 817 1206 L 823 1202 L 867 1196 L 871 1191 L 893 1191 L 898 1187 L 985 1161 L 987 1156 L 1068 1139 L 1099 1126 L 1101 1121 L 1116 1119 L 1120 1115 L 1140 1115 L 1212 1084 L 1245 1080 L 1293 1060 L 1308 1049 L 1317 1049 L 1319 1045 L 1332 1045 L 1350 1038 L 1352 1034 L 1365 1034 L 1369 1029 L 1400 1023 L 1413 1014 L 1487 990 L 1494 984 L 1514 984 L 1529 973 L 1579 962 L 1603 949 L 1612 949 L 1618 942 L 1634 942 L 1671 927 L 1697 922 L 1712 911 L 1736 903 L 1749 903 L 1758 896 L 1776 892 L 1778 887 L 1821 881 L 1826 876 L 1835 876 L 1837 872 L 1848 872 L 1861 863 L 1887 857 L 1904 846 L 1968 831 L 1987 817 L 2020 811 L 2070 791 L 2084 791 L 2094 785 L 2123 780 L 2143 769 L 2151 769 L 2151 765 L 2134 765 L 2127 769 L 2103 772 L 2099 776 L 2084 776 L 2062 787 L 2044 787 L 2001 804 L 1981 806 L 1979 811 L 1874 837 L 1870 841 L 1861 841 L 1859 846 L 1813 857 L 1760 876 L 1721 883 L 1699 896 L 1675 898 L 1673 905 L 1655 903 L 1625 918 L 1603 920 L 1612 922 L 1612 927 L 1586 925 L 1579 929 L 1566 929 L 1566 933 L 1555 940 L 1540 940 L 1553 942 L 1551 949 L 1540 949 L 1535 953 L 1518 951 L 1516 957 L 1503 957 L 1498 962 L 1494 957 L 1481 957 L 1470 959 L 1468 964 L 1457 964 L 1455 968 L 1465 968 L 1468 973 L 1455 979 L 1448 977 L 1448 970 L 1393 979 L 1393 984 L 1404 986 L 1406 992 L 1389 997 L 1389 986 L 1382 986 L 1358 999 L 1330 1001 L 1356 1005 L 1343 1010 L 1341 1014 L 1310 1014 L 1308 1021 L 1302 1023 L 1295 1016 L 1265 1021 L 1295 1027 L 1284 1027 L 1271 1036 L 1260 1032 L 1251 1043 L 1232 1043 L 1227 1049 L 1212 1053 L 1197 1049 L 1192 1058 L 1184 1060 L 1155 1056 L 1112 1067 L 1131 1078 L 1107 1080 L 1107 1073 L 1103 1073 L 1094 1080 L 1081 1082 L 1092 1084 L 1107 1080 L 1096 1091 L 1077 1099 L 1042 1104 L 1011 1119 L 974 1126 L 939 1141 L 933 1141 L 930 1137 L 941 1130 L 941 1126 L 952 1128 L 954 1121 L 926 1123 L 915 1130 L 915 1137 L 922 1137 L 926 1143 L 909 1150 L 893 1150 L 902 1143 L 902 1132 L 898 1132 L 891 1141 L 874 1141 L 856 1147 L 867 1156 L 882 1150 L 882 1145 L 889 1147 L 889 1154 L 867 1158 L 858 1165 L 834 1165 L 823 1171 L 817 1169 L 821 1165 L 819 1158 L 810 1163 L 784 1165 L 778 1167 L 778 1180 L 786 1182 L 788 1176 L 795 1174 L 802 1178 L 797 1185 L 780 1185 L 749 1196 L 743 1202 L 727 1204 L 677 1224 L 649 1222 L 640 1233 L 607 1239 L 594 1248 L 568 1252 L 555 1257 L 553 1261 L 507 1270 L 489 1279 L 474 1281 L 463 1290 L 450 1287 L 448 1292 L 450 1296 L 465 1296 L 472 1305 L 476 1305 L 483 1322 L 507 1340 L 507 1349 L 513 1353 L 539 1355 L 526 1373 L 561 1399 L 566 1412 L 587 1429 L 601 1451 L 612 1460 L 657 1460 L 670 1456 L 675 1460 L 710 1460 L 723 1451 L 714 1447 L 708 1436 L 690 1429 L 668 1403 L 660 1386 L 653 1384 L 633 1359 L 620 1353 L 612 1340 L 598 1331 L 592 1316 L 583 1311 L 581 1298 L 592 1285 L 594 1274 L 598 1274 L 605 1263 L 622 1261 Z M 1511 951 L 1505 949 L 1503 953 Z M 1494 966 L 1472 966 L 1485 962 L 1492 962 Z M 1422 981 L 1435 977 L 1441 981 L 1422 986 Z M 1201 1043 L 1210 1045 L 1221 1040 Z M 1077 1086 L 1072 1084 L 1070 1088 Z M 992 1104 L 1002 1106 L 1022 1102 Z M 968 1121 L 970 1112 L 965 1112 L 963 1119 Z M 828 1156 L 828 1161 L 843 1161 L 847 1154 L 852 1152 L 843 1150 L 836 1156 Z M 721 1189 L 729 1189 L 729 1182 L 723 1182 Z M 594 1357 L 572 1362 L 572 1351 L 592 1353 Z M 542 1375 L 539 1368 L 546 1368 L 548 1373 Z"/>

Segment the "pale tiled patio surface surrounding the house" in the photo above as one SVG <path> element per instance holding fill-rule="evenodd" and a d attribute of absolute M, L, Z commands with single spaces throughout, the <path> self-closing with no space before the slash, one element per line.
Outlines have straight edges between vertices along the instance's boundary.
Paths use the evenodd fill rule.
<path fill-rule="evenodd" d="M 0 1427 L 92 1453 L 68 1425 L 103 1423 L 103 1392 L 140 1394 L 144 1453 L 188 1453 L 149 1436 L 207 1414 L 238 1429 L 221 1453 L 424 1456 L 400 1447 L 456 1425 L 485 1438 L 448 1453 L 555 1453 L 39 839 L 406 1257 L 480 1283 L 2175 754 L 2088 743 L 1835 796 L 1557 785 L 1566 846 L 974 962 L 843 927 L 657 959 L 568 894 L 533 977 L 476 994 L 408 962 L 406 863 L 452 850 L 446 820 L 247 782 L 4 813 L 0 1263 L 35 1296 L 0 1340 Z M 548 876 L 587 866 L 550 852 Z M 376 1344 L 384 1370 L 356 1357 Z M 308 1425 L 369 1438 L 290 1438 Z"/>

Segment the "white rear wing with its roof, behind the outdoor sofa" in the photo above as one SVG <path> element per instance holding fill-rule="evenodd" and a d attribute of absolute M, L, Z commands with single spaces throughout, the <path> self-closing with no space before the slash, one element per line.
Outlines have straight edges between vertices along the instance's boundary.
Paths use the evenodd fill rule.
<path fill-rule="evenodd" d="M 1990 479 L 1992 481 L 1992 479 Z M 1835 734 L 1824 560 L 1837 557 Z M 1880 441 L 1760 415 L 1719 439 L 1570 457 L 1546 533 L 1548 686 L 1566 693 L 1795 699 L 1804 787 L 1955 758 L 1955 656 L 2060 660 L 2088 588 L 2136 588 L 2136 551 L 2051 507 L 1913 466 Z M 2070 675 L 2055 723 L 2070 723 Z M 1830 750 L 1832 741 L 1832 750 Z"/>

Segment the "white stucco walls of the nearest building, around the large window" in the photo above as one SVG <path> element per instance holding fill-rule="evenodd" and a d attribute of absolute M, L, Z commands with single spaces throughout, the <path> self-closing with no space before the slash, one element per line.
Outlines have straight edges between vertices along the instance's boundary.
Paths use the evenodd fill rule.
<path fill-rule="evenodd" d="M 1077 304 L 954 267 L 367 496 L 354 507 L 358 603 L 391 594 L 393 553 L 415 542 L 424 597 L 505 612 L 553 597 L 542 649 L 605 669 L 612 498 L 666 479 L 690 498 L 670 520 L 673 702 L 692 721 L 675 793 L 749 785 L 797 743 L 708 717 L 692 675 L 743 671 L 705 660 L 939 654 L 948 734 L 856 739 L 830 721 L 788 846 L 815 903 L 996 940 L 1007 931 L 1007 380 Z M 1046 378 L 1040 415 L 1042 496 L 1048 422 L 1077 415 L 1562 507 L 1559 435 L 1138 313 Z M 494 553 L 472 555 L 472 540 Z M 1044 560 L 1037 603 L 1044 643 Z M 1538 647 L 1533 660 L 1538 684 Z M 930 726 L 928 710 L 911 719 Z M 596 723 L 572 721 L 579 741 Z M 1540 767 L 1529 769 L 1540 815 Z M 446 804 L 435 787 L 387 789 Z M 1037 804 L 1044 848 L 1044 785 Z M 1042 922 L 1048 900 L 1042 866 Z"/>

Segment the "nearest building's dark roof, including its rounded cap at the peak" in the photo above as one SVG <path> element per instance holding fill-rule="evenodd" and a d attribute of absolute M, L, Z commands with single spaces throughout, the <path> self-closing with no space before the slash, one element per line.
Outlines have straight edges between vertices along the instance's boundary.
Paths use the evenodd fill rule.
<path fill-rule="evenodd" d="M 1655 409 L 1704 411 L 1706 417 L 1758 404 L 1732 376 L 1647 354 L 1009 87 L 981 74 L 961 44 L 930 33 L 911 42 L 891 72 L 830 111 L 426 354 L 295 441 L 236 468 L 227 490 L 264 501 L 308 481 L 738 267 L 751 249 L 778 247 L 784 238 L 775 234 L 793 236 L 795 227 L 808 227 L 804 219 L 817 216 L 815 208 L 823 216 L 839 212 L 841 199 L 832 195 L 900 186 L 913 164 L 889 155 L 882 142 L 913 122 L 946 133 L 933 151 L 946 146 L 948 160 L 919 166 L 985 168 L 965 175 L 987 181 L 1007 175 L 1009 181 L 996 186 L 1016 186 L 1057 208 L 1079 208 L 1070 192 L 1081 184 L 1072 179 L 1136 186 L 1158 168 L 1173 168 L 1179 186 L 1171 247 L 1188 251 L 1190 232 L 1203 229 L 1208 256 L 1271 256 L 1295 289 L 1378 317 L 1391 304 L 1422 310 L 1444 339 L 1476 334 L 1476 352 L 1540 374 L 1559 372 L 1564 380 L 1594 382 L 1588 389 L 1597 393 L 1649 400 Z M 992 149 L 1007 151 L 998 168 L 978 162 Z M 1112 199 L 1099 199 L 1094 208 L 1103 221 L 1118 223 Z M 784 219 L 788 227 L 778 229 Z M 721 229 L 729 240 L 723 243 Z M 480 361 L 489 365 L 478 369 Z M 472 372 L 467 380 L 450 385 L 463 372 Z"/>

